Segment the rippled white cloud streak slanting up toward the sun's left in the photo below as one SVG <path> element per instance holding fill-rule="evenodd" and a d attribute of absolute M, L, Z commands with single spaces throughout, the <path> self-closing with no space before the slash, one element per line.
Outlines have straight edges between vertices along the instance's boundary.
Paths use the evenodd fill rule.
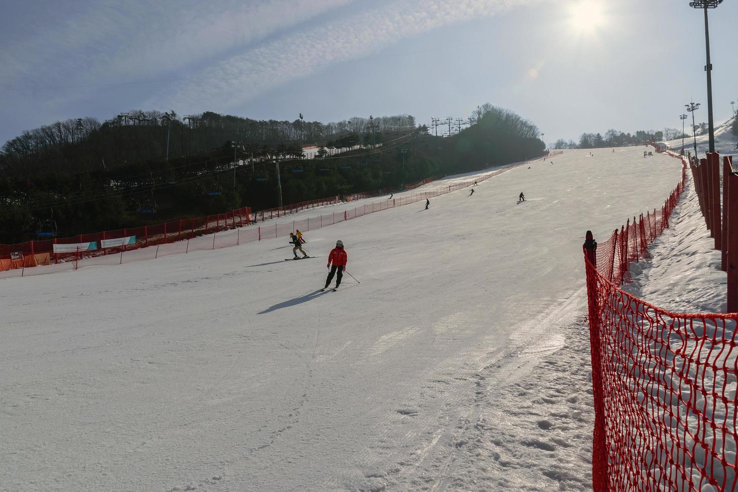
<path fill-rule="evenodd" d="M 284 35 L 203 69 L 147 105 L 227 110 L 329 63 L 354 60 L 423 32 L 537 0 L 403 0 Z"/>

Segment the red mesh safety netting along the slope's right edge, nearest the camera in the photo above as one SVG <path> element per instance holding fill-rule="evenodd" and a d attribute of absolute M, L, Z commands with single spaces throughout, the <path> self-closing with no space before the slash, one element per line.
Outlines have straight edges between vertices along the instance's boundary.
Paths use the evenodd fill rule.
<path fill-rule="evenodd" d="M 671 313 L 619 287 L 686 181 L 585 251 L 595 491 L 736 491 L 738 314 Z"/>

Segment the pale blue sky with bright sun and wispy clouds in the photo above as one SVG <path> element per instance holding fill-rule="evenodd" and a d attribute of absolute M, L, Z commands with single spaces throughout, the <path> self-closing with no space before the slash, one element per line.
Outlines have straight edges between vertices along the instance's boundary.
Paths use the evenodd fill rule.
<path fill-rule="evenodd" d="M 688 0 L 3 0 L 0 143 L 132 109 L 337 121 L 469 117 L 545 142 L 707 120 L 703 13 Z M 738 100 L 738 2 L 710 11 L 716 122 Z M 736 106 L 738 108 L 738 106 Z"/>

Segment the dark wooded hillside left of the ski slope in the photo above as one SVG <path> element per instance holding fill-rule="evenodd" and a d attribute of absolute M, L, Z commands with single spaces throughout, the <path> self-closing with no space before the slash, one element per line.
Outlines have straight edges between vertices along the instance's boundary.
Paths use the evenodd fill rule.
<path fill-rule="evenodd" d="M 381 188 L 399 190 L 430 176 L 544 153 L 545 144 L 532 122 L 504 108 L 480 108 L 475 125 L 449 138 L 430 136 L 409 115 L 352 118 L 308 128 L 301 120 L 256 124 L 204 113 L 191 129 L 175 115 L 177 131 L 185 128 L 187 145 L 204 150 L 173 153 L 172 144 L 182 145 L 182 139 L 170 136 L 169 159 L 155 151 L 166 130 L 155 112 L 144 114 L 151 118 L 148 125 L 97 126 L 92 119 L 83 120 L 85 136 L 76 120 L 48 125 L 24 132 L 27 137 L 8 142 L 0 154 L 0 243 L 35 238 L 48 221 L 54 221 L 64 237 L 244 206 L 255 211 L 276 207 L 277 169 L 283 203 L 290 204 Z M 170 131 L 175 133 L 174 127 Z M 278 138 L 320 135 L 323 140 L 317 139 L 317 145 L 323 159 L 304 159 L 299 140 Z M 193 136 L 202 142 L 196 143 Z M 272 136 L 275 142 L 267 142 Z M 103 158 L 95 153 L 106 145 L 116 146 L 120 154 L 104 153 Z M 328 155 L 330 147 L 353 150 Z M 98 157 L 105 165 L 96 162 Z"/>

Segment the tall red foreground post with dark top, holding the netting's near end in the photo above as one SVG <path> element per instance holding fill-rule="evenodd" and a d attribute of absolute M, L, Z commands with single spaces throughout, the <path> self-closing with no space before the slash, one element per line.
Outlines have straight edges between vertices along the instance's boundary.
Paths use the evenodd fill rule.
<path fill-rule="evenodd" d="M 587 231 L 589 232 L 589 231 Z M 615 235 L 618 231 L 615 229 Z M 591 233 L 590 233 L 591 234 Z M 613 253 L 615 249 L 613 249 Z M 584 271 L 587 276 L 587 307 L 590 325 L 590 357 L 592 361 L 592 396 L 595 409 L 595 425 L 592 442 L 592 485 L 597 492 L 609 490 L 607 470 L 607 448 L 605 446 L 604 385 L 601 364 L 601 320 L 599 315 L 598 282 L 596 271 L 596 249 L 584 247 Z"/>

